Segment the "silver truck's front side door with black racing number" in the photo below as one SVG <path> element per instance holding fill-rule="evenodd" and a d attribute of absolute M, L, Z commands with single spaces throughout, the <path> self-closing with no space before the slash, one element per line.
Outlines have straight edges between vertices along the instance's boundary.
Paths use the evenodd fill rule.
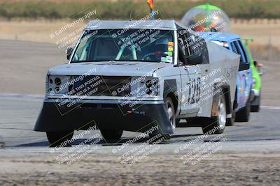
<path fill-rule="evenodd" d="M 180 115 L 197 116 L 200 111 L 200 86 L 201 86 L 201 70 L 198 65 L 188 65 L 187 58 L 192 51 L 186 42 L 186 36 L 182 35 L 178 38 L 179 49 L 179 69 L 181 72 L 181 113 Z"/>

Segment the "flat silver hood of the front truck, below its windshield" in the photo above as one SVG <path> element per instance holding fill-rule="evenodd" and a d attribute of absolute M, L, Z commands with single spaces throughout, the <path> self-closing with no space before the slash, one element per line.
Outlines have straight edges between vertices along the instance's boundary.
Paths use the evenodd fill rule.
<path fill-rule="evenodd" d="M 48 75 L 152 76 L 155 70 L 169 65 L 173 64 L 137 61 L 69 63 L 51 68 Z"/>

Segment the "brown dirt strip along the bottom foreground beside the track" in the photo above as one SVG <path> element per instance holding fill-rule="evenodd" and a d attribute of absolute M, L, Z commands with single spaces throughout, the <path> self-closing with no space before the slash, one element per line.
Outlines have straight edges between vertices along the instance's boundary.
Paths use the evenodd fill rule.
<path fill-rule="evenodd" d="M 8 155 L 7 155 L 8 156 Z M 279 185 L 279 153 L 219 153 L 195 165 L 178 156 L 148 157 L 135 166 L 87 155 L 59 165 L 50 156 L 0 157 L 0 185 Z M 19 169 L 25 167 L 24 169 Z"/>

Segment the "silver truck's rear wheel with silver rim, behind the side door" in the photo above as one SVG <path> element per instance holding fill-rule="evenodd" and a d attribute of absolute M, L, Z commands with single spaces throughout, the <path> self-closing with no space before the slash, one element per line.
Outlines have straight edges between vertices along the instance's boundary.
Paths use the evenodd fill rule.
<path fill-rule="evenodd" d="M 222 134 L 225 130 L 227 118 L 225 95 L 221 93 L 218 95 L 218 99 L 218 116 L 204 119 L 202 125 L 202 131 L 204 134 Z"/>

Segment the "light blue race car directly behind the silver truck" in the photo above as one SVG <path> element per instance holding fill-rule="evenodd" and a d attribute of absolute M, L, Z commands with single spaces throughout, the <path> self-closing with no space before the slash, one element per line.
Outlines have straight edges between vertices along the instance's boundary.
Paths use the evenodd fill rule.
<path fill-rule="evenodd" d="M 234 118 L 235 121 L 249 121 L 251 100 L 254 97 L 252 87 L 255 87 L 255 84 L 253 83 L 252 77 L 252 57 L 248 52 L 248 48 L 241 42 L 241 38 L 237 34 L 219 32 L 197 32 L 197 34 L 241 56 L 237 75 L 235 104 L 233 105 L 233 110 L 235 110 L 236 113 L 235 117 L 232 117 L 232 120 L 228 121 L 228 125 L 234 123 Z"/>

